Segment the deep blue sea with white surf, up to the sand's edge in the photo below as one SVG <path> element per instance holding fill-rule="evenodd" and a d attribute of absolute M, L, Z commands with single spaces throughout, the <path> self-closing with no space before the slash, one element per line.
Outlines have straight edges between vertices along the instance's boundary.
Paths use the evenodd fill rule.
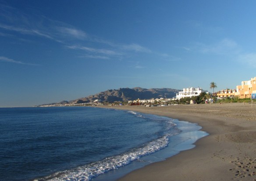
<path fill-rule="evenodd" d="M 195 147 L 200 129 L 128 110 L 0 108 L 0 181 L 114 181 Z"/>

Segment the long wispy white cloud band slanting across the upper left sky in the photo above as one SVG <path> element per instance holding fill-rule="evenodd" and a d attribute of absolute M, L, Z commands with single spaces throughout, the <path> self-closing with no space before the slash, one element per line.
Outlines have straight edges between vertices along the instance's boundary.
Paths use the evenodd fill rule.
<path fill-rule="evenodd" d="M 66 48 L 93 52 L 94 54 L 121 56 L 121 55 L 126 54 L 125 52 L 128 53 L 129 51 L 143 52 L 143 53 L 151 53 L 152 52 L 148 48 L 145 48 L 145 47 L 143 47 L 139 44 L 135 44 L 135 43 L 134 44 L 118 44 L 118 43 L 115 44 L 110 41 L 105 41 L 102 38 L 95 38 L 93 36 L 92 36 L 93 38 L 91 38 L 84 31 L 81 31 L 81 30 L 78 30 L 75 28 L 71 28 L 71 27 L 49 28 L 50 30 L 55 29 L 56 32 L 54 32 L 54 31 L 46 32 L 43 29 L 42 30 L 36 29 L 36 27 L 33 29 L 29 29 L 28 27 L 14 27 L 14 26 L 6 25 L 6 24 L 0 24 L 0 28 L 3 28 L 8 31 L 15 31 L 20 34 L 29 34 L 29 35 L 34 35 L 34 36 L 40 36 L 43 38 L 48 38 L 53 41 L 57 41 L 62 44 L 66 44 L 66 46 L 65 46 Z M 5 35 L 5 34 L 3 34 L 3 35 Z M 110 46 L 110 48 L 112 48 L 112 50 L 107 49 L 107 48 L 92 48 L 92 47 L 81 46 L 81 45 L 68 45 L 68 44 L 70 44 L 68 42 L 68 40 L 70 40 L 72 38 L 79 39 L 80 41 L 82 41 L 82 43 L 86 43 L 87 41 L 97 43 L 97 45 L 96 45 L 97 47 L 103 46 L 103 44 L 107 44 Z M 61 41 L 59 41 L 60 39 L 61 39 Z M 94 56 L 94 58 L 96 58 L 96 57 L 103 58 L 100 55 L 93 55 L 93 56 Z M 106 57 L 104 57 L 104 58 L 107 59 Z"/>

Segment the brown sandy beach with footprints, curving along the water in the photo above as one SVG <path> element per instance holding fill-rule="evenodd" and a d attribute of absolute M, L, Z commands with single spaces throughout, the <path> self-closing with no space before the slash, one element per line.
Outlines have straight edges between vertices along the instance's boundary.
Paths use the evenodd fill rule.
<path fill-rule="evenodd" d="M 255 103 L 113 108 L 198 123 L 210 133 L 195 148 L 132 171 L 119 181 L 256 181 Z"/>

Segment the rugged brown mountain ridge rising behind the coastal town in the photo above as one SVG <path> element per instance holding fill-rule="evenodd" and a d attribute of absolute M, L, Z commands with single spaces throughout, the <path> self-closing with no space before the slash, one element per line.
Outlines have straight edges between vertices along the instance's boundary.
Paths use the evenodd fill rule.
<path fill-rule="evenodd" d="M 62 101 L 58 103 L 51 103 L 45 105 L 57 105 L 57 104 L 79 104 L 79 103 L 88 103 L 93 102 L 96 99 L 100 99 L 101 101 L 107 102 L 115 102 L 115 101 L 128 101 L 128 100 L 135 100 L 135 99 L 151 99 L 151 98 L 173 98 L 176 96 L 180 90 L 177 89 L 169 89 L 169 88 L 161 88 L 161 89 L 143 89 L 140 87 L 135 88 L 120 88 L 117 90 L 107 90 L 104 92 L 99 92 L 95 95 L 75 99 L 72 101 Z M 45 106 L 40 105 L 40 106 Z"/>

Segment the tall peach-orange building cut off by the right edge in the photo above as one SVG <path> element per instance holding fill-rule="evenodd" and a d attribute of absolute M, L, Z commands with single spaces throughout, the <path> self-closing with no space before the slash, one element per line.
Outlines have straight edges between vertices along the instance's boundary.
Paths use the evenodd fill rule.
<path fill-rule="evenodd" d="M 239 96 L 240 99 L 251 98 L 252 93 L 256 93 L 256 77 L 242 81 L 242 85 L 237 85 L 236 90 L 235 95 Z"/>

